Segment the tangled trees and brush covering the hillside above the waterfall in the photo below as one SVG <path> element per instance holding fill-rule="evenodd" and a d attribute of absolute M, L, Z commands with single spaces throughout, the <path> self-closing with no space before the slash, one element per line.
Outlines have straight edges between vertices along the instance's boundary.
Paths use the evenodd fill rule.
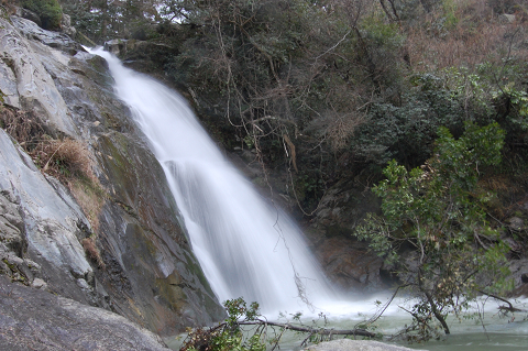
<path fill-rule="evenodd" d="M 255 149 L 268 168 L 286 166 L 289 195 L 307 213 L 343 177 L 372 185 L 393 158 L 421 165 L 439 127 L 460 136 L 468 121 L 506 131 L 501 176 L 488 186 L 524 186 L 524 1 L 62 3 L 98 43 L 169 47 L 151 53 L 153 67 L 144 69 L 188 91 L 226 147 Z"/>

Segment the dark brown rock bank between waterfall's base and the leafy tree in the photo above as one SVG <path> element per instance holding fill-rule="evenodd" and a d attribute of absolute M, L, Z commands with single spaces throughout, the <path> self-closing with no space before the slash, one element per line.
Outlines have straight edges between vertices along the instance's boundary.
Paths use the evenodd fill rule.
<path fill-rule="evenodd" d="M 349 293 L 387 288 L 393 283 L 383 260 L 352 235 L 367 212 L 380 209 L 378 199 L 354 180 L 339 182 L 324 194 L 310 222 L 314 251 L 328 277 Z"/>

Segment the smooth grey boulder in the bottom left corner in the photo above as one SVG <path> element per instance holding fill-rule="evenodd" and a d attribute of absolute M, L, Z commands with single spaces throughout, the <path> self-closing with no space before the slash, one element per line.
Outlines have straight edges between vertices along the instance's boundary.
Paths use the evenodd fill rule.
<path fill-rule="evenodd" d="M 0 349 L 162 351 L 156 334 L 108 310 L 0 277 Z"/>

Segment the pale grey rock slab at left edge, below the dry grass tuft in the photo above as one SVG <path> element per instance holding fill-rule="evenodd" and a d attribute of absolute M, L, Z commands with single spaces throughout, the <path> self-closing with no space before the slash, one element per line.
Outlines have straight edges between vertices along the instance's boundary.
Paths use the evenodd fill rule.
<path fill-rule="evenodd" d="M 28 285 L 44 278 L 48 288 L 85 304 L 97 304 L 94 271 L 78 235 L 88 220 L 67 190 L 46 178 L 0 130 L 0 260 L 12 279 Z M 35 263 L 33 263 L 35 262 Z"/>

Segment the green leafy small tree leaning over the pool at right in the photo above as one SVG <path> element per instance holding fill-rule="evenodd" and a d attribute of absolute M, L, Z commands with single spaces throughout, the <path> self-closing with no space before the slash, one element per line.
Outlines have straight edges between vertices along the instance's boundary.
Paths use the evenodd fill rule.
<path fill-rule="evenodd" d="M 501 162 L 504 131 L 497 123 L 466 123 L 458 140 L 446 128 L 438 134 L 435 155 L 424 166 L 408 172 L 388 163 L 386 179 L 373 188 L 383 199 L 383 216 L 369 215 L 356 230 L 418 298 L 413 328 L 425 338 L 435 334 L 432 318 L 449 333 L 449 314 L 465 310 L 477 293 L 509 287 L 508 249 L 486 218 L 494 195 L 479 186 Z"/>

